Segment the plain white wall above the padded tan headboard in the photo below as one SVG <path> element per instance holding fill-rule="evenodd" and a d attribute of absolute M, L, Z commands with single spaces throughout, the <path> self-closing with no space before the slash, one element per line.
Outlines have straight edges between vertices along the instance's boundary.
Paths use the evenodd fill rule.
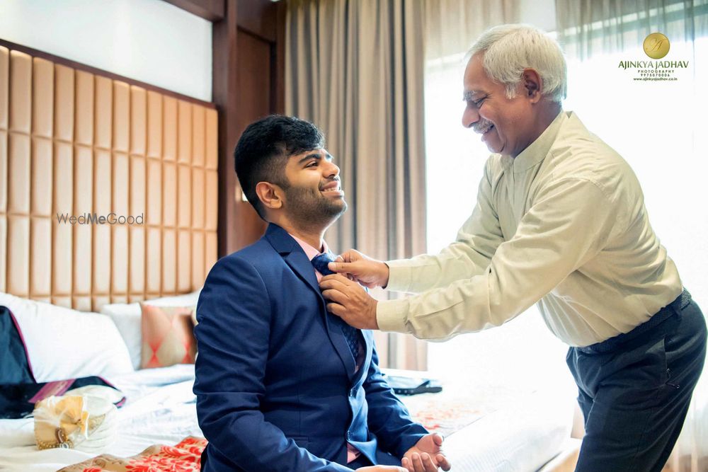
<path fill-rule="evenodd" d="M 0 38 L 212 100 L 212 23 L 162 0 L 0 0 Z"/>

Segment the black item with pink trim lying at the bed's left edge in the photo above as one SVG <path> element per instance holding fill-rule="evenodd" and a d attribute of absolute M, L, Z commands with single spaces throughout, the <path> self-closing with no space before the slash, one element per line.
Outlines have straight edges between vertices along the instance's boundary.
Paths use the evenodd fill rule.
<path fill-rule="evenodd" d="M 33 412 L 38 401 L 87 385 L 115 388 L 96 376 L 38 384 L 15 318 L 6 306 L 0 306 L 0 418 L 23 418 Z M 125 398 L 116 406 L 123 403 Z"/>

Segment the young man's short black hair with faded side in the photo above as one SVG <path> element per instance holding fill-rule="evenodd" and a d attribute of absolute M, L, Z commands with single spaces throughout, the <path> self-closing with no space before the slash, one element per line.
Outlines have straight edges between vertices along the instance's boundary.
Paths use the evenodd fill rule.
<path fill-rule="evenodd" d="M 265 220 L 265 208 L 256 195 L 258 182 L 287 189 L 285 164 L 290 156 L 324 147 L 324 136 L 311 122 L 270 115 L 251 123 L 234 150 L 234 165 L 246 198 Z"/>

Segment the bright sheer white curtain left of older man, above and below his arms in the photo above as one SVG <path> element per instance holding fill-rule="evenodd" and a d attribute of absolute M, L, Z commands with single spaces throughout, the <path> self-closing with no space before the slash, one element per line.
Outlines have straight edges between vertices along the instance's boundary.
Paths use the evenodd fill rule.
<path fill-rule="evenodd" d="M 462 127 L 464 55 L 487 28 L 524 21 L 521 6 L 521 1 L 426 1 L 428 253 L 454 241 L 472 213 L 489 157 L 479 135 Z M 447 381 L 562 391 L 573 403 L 566 350 L 532 307 L 499 328 L 430 343 L 428 366 Z"/>

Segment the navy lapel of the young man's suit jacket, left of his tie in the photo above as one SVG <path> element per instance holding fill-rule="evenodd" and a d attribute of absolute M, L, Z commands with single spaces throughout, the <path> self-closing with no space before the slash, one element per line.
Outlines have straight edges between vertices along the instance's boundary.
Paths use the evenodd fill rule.
<path fill-rule="evenodd" d="M 268 241 L 270 241 L 271 246 L 275 248 L 275 251 L 280 253 L 288 267 L 316 293 L 320 304 L 319 311 L 324 317 L 324 326 L 329 335 L 329 340 L 344 364 L 344 369 L 346 370 L 349 381 L 352 381 L 354 378 L 355 363 L 354 357 L 349 350 L 349 345 L 344 338 L 344 333 L 342 333 L 341 326 L 344 322 L 338 316 L 327 313 L 326 302 L 324 301 L 324 297 L 322 297 L 322 292 L 320 292 L 312 263 L 307 258 L 304 251 L 302 251 L 297 241 L 280 226 L 272 223 L 269 224 L 268 229 L 265 231 L 265 237 L 268 238 Z"/>

